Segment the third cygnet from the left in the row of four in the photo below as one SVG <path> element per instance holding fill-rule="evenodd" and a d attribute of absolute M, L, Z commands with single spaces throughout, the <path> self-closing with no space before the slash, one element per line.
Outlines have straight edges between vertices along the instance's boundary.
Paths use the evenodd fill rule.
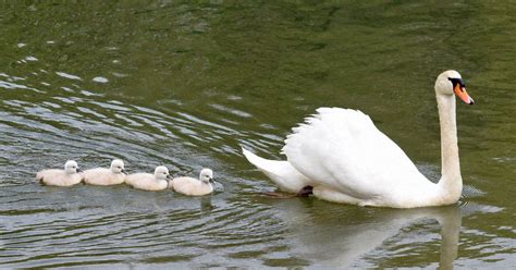
<path fill-rule="evenodd" d="M 155 174 L 133 173 L 125 176 L 125 183 L 134 188 L 144 191 L 162 191 L 169 186 L 169 169 L 164 165 L 156 167 Z"/>

